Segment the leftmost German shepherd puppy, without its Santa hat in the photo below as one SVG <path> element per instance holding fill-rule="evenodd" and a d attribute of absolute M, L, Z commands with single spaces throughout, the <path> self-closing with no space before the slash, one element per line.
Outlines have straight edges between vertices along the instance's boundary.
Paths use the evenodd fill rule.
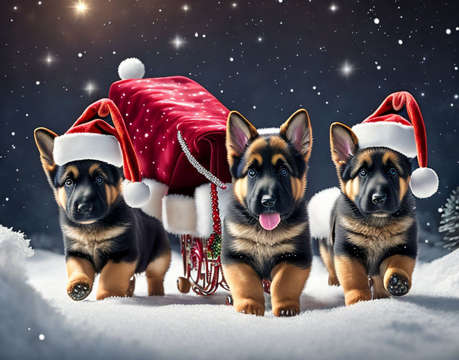
<path fill-rule="evenodd" d="M 161 223 L 126 205 L 120 194 L 122 172 L 107 163 L 82 160 L 57 166 L 54 132 L 37 128 L 35 142 L 59 206 L 67 264 L 67 294 L 85 299 L 100 273 L 97 300 L 132 296 L 134 274 L 147 274 L 148 294 L 164 295 L 171 260 Z"/>

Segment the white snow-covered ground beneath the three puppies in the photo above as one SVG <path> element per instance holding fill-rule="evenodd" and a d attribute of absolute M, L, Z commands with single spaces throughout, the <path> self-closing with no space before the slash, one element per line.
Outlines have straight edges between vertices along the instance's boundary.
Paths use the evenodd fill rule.
<path fill-rule="evenodd" d="M 406 297 L 350 307 L 315 258 L 302 313 L 279 319 L 269 305 L 262 318 L 236 313 L 225 291 L 180 294 L 178 254 L 164 297 L 147 297 L 138 277 L 133 298 L 96 301 L 93 291 L 75 302 L 64 257 L 36 251 L 25 260 L 24 244 L 0 227 L 0 358 L 459 358 L 459 251 L 418 263 Z"/>

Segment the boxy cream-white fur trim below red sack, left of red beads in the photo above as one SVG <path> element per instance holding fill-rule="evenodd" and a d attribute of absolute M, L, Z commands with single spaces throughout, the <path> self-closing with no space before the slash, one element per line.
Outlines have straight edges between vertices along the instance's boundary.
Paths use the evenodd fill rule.
<path fill-rule="evenodd" d="M 170 194 L 162 198 L 162 223 L 172 234 L 196 234 L 196 206 L 193 197 Z"/>

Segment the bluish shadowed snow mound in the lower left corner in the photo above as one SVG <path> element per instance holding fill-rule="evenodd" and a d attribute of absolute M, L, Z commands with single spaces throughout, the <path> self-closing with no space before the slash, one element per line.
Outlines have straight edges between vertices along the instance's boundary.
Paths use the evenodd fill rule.
<path fill-rule="evenodd" d="M 114 341 L 71 326 L 26 282 L 32 255 L 23 234 L 0 225 L 0 358 L 122 358 Z"/>

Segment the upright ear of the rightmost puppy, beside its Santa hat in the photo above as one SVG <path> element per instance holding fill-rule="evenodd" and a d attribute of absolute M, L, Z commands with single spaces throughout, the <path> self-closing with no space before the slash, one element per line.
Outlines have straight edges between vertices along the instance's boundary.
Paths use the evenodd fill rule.
<path fill-rule="evenodd" d="M 359 139 L 356 134 L 341 123 L 330 126 L 331 159 L 336 166 L 341 166 L 359 149 Z"/>

